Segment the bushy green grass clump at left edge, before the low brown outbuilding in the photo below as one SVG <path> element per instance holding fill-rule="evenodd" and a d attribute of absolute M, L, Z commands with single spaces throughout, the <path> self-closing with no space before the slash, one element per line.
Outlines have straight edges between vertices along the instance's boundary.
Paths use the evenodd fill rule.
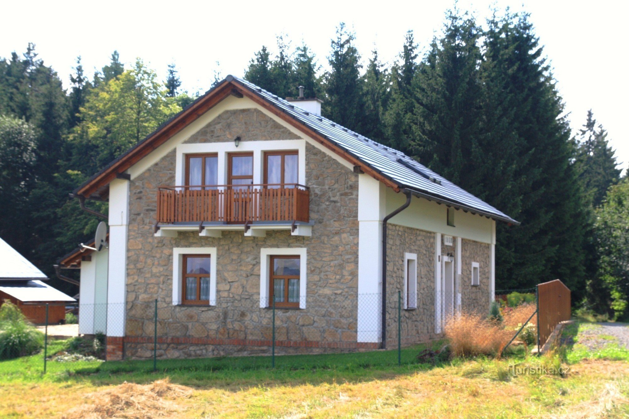
<path fill-rule="evenodd" d="M 43 333 L 39 332 L 19 308 L 5 300 L 0 306 L 0 359 L 32 355 L 43 347 Z"/>

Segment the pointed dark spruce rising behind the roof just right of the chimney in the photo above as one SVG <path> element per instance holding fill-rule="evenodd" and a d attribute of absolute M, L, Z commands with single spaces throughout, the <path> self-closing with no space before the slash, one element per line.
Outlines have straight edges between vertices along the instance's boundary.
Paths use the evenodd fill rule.
<path fill-rule="evenodd" d="M 363 131 L 364 87 L 360 77 L 360 55 L 353 45 L 355 35 L 345 28 L 337 27 L 337 35 L 331 40 L 328 57 L 330 71 L 325 75 L 325 115 L 350 130 Z"/>

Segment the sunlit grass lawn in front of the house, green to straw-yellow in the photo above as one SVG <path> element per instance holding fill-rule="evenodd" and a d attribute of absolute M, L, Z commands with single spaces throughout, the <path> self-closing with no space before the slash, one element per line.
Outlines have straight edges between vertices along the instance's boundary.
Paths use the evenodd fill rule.
<path fill-rule="evenodd" d="M 629 415 L 629 351 L 608 349 L 603 356 L 579 348 L 580 327 L 588 328 L 564 332 L 574 337 L 564 354 L 520 351 L 436 365 L 419 363 L 415 356 L 425 347 L 417 346 L 403 349 L 401 366 L 392 350 L 286 355 L 276 357 L 275 369 L 270 357 L 158 360 L 157 372 L 152 361 L 48 362 L 42 376 L 39 354 L 0 362 L 0 416 L 99 417 L 109 410 L 86 408 L 125 398 L 125 417 Z M 50 352 L 64 345 L 53 342 Z M 513 376 L 509 366 L 517 362 L 571 372 Z M 170 383 L 158 381 L 165 378 Z"/>

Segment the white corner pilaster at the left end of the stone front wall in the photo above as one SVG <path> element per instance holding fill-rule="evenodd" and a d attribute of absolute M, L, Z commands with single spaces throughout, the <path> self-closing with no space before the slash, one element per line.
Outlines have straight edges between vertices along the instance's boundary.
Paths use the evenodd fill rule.
<path fill-rule="evenodd" d="M 129 181 L 109 184 L 109 267 L 107 335 L 125 336 L 126 249 L 129 224 Z"/>

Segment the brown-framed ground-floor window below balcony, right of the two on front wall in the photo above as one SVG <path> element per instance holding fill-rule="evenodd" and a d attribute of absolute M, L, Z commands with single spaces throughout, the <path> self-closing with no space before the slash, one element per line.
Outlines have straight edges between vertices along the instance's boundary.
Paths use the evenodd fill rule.
<path fill-rule="evenodd" d="M 299 308 L 299 256 L 271 256 L 269 306 Z"/>

